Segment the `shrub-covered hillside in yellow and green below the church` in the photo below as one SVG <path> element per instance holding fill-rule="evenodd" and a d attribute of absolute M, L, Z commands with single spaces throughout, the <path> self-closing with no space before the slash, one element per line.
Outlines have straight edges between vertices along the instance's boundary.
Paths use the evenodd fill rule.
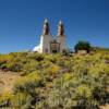
<path fill-rule="evenodd" d="M 12 52 L 0 56 L 0 70 L 3 109 L 108 108 L 109 52 Z"/>

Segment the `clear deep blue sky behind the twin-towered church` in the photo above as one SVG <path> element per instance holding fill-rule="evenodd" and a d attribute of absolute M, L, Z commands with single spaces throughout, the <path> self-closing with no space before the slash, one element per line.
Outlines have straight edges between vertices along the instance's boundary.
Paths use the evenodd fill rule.
<path fill-rule="evenodd" d="M 109 0 L 0 0 L 0 53 L 33 49 L 46 17 L 53 36 L 63 21 L 70 48 L 78 40 L 109 47 Z"/>

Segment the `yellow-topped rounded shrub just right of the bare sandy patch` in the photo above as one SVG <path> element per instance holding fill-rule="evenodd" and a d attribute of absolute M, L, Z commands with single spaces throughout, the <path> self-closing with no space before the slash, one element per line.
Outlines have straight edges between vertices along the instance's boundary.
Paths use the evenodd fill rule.
<path fill-rule="evenodd" d="M 41 87 L 43 80 L 37 72 L 33 72 L 26 76 L 19 78 L 14 85 L 14 93 L 25 92 L 34 93 L 35 87 Z"/>

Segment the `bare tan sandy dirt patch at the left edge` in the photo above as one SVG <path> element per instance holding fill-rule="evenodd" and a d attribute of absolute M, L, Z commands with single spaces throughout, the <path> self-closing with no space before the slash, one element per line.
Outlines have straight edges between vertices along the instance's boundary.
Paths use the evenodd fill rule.
<path fill-rule="evenodd" d="M 20 75 L 16 72 L 0 71 L 0 93 L 3 90 L 12 92 L 13 84 Z"/>

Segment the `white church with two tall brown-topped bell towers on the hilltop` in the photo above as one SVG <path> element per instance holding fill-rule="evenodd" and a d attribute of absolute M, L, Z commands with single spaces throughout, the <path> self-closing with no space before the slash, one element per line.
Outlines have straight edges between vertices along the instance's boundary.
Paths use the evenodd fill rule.
<path fill-rule="evenodd" d="M 62 53 L 65 49 L 65 35 L 62 21 L 59 22 L 57 36 L 53 37 L 50 34 L 49 22 L 46 19 L 44 22 L 43 34 L 40 35 L 39 45 L 36 46 L 33 51 L 37 51 L 39 53 Z"/>

